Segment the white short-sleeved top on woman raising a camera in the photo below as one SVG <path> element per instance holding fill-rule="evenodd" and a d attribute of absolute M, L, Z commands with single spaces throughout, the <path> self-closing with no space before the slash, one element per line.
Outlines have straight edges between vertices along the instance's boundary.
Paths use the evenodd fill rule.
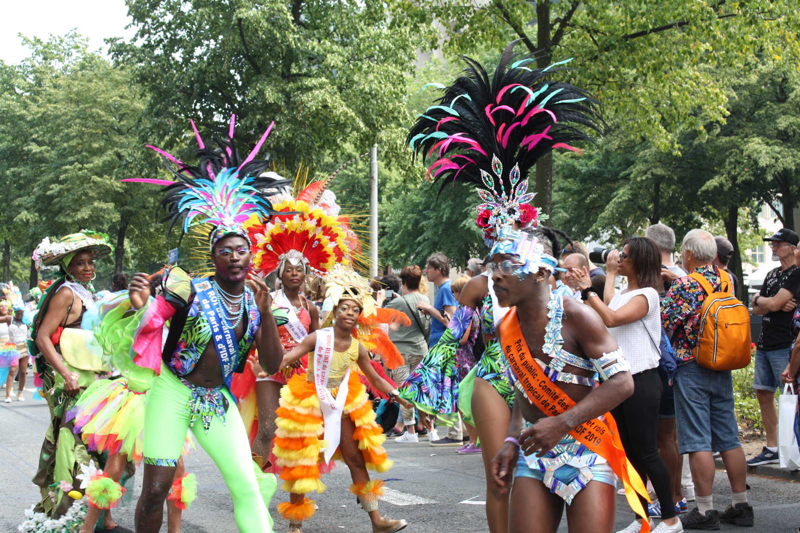
<path fill-rule="evenodd" d="M 630 363 L 631 374 L 656 368 L 661 359 L 661 354 L 654 346 L 661 342 L 661 306 L 658 304 L 658 292 L 651 287 L 617 292 L 609 304 L 609 308 L 616 311 L 640 294 L 647 298 L 647 314 L 642 320 L 608 328 L 611 336 L 625 353 L 625 359 Z"/>

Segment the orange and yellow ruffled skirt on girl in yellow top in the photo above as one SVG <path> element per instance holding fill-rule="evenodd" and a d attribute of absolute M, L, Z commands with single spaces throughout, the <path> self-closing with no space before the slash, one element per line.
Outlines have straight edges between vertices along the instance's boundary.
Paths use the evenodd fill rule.
<path fill-rule="evenodd" d="M 336 391 L 334 396 L 335 393 Z M 283 479 L 283 490 L 294 494 L 325 491 L 320 471 L 325 460 L 322 457 L 322 448 L 326 444 L 322 440 L 325 428 L 317 390 L 306 379 L 306 374 L 292 376 L 281 389 L 277 413 L 278 429 L 272 451 L 277 457 L 278 466 L 282 467 L 280 477 Z M 353 436 L 358 441 L 358 449 L 364 457 L 366 467 L 377 472 L 389 470 L 392 461 L 382 446 L 386 437 L 381 426 L 375 422 L 372 403 L 364 384 L 358 379 L 358 372 L 350 372 L 344 416 L 348 416 L 355 424 Z M 342 459 L 338 449 L 334 459 Z M 278 506 L 278 511 L 282 511 L 281 506 L 284 504 Z M 284 512 L 282 515 L 289 518 Z"/>

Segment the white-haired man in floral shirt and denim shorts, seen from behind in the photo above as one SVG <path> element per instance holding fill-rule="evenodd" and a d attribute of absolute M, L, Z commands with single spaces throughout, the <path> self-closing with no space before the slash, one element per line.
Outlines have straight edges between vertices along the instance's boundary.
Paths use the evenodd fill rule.
<path fill-rule="evenodd" d="M 711 264 L 717 257 L 713 235 L 702 229 L 686 233 L 681 257 L 687 272 L 698 273 L 714 291 L 719 290 L 720 270 Z M 662 323 L 672 336 L 678 356 L 678 372 L 674 379 L 675 411 L 680 428 L 678 447 L 682 454 L 689 454 L 698 504 L 682 523 L 684 529 L 718 529 L 719 523 L 752 526 L 753 507 L 747 503 L 747 468 L 738 439 L 730 371 L 703 368 L 694 360 L 705 295 L 697 280 L 683 276 L 674 281 L 662 301 Z M 712 496 L 714 451 L 722 455 L 733 496 L 722 513 L 714 510 Z"/>

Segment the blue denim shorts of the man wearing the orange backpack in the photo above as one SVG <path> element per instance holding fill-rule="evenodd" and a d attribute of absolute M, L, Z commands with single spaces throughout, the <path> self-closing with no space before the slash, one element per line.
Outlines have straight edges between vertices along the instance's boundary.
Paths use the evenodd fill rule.
<path fill-rule="evenodd" d="M 680 453 L 741 446 L 730 370 L 710 370 L 694 360 L 682 364 L 675 373 L 674 394 Z"/>

